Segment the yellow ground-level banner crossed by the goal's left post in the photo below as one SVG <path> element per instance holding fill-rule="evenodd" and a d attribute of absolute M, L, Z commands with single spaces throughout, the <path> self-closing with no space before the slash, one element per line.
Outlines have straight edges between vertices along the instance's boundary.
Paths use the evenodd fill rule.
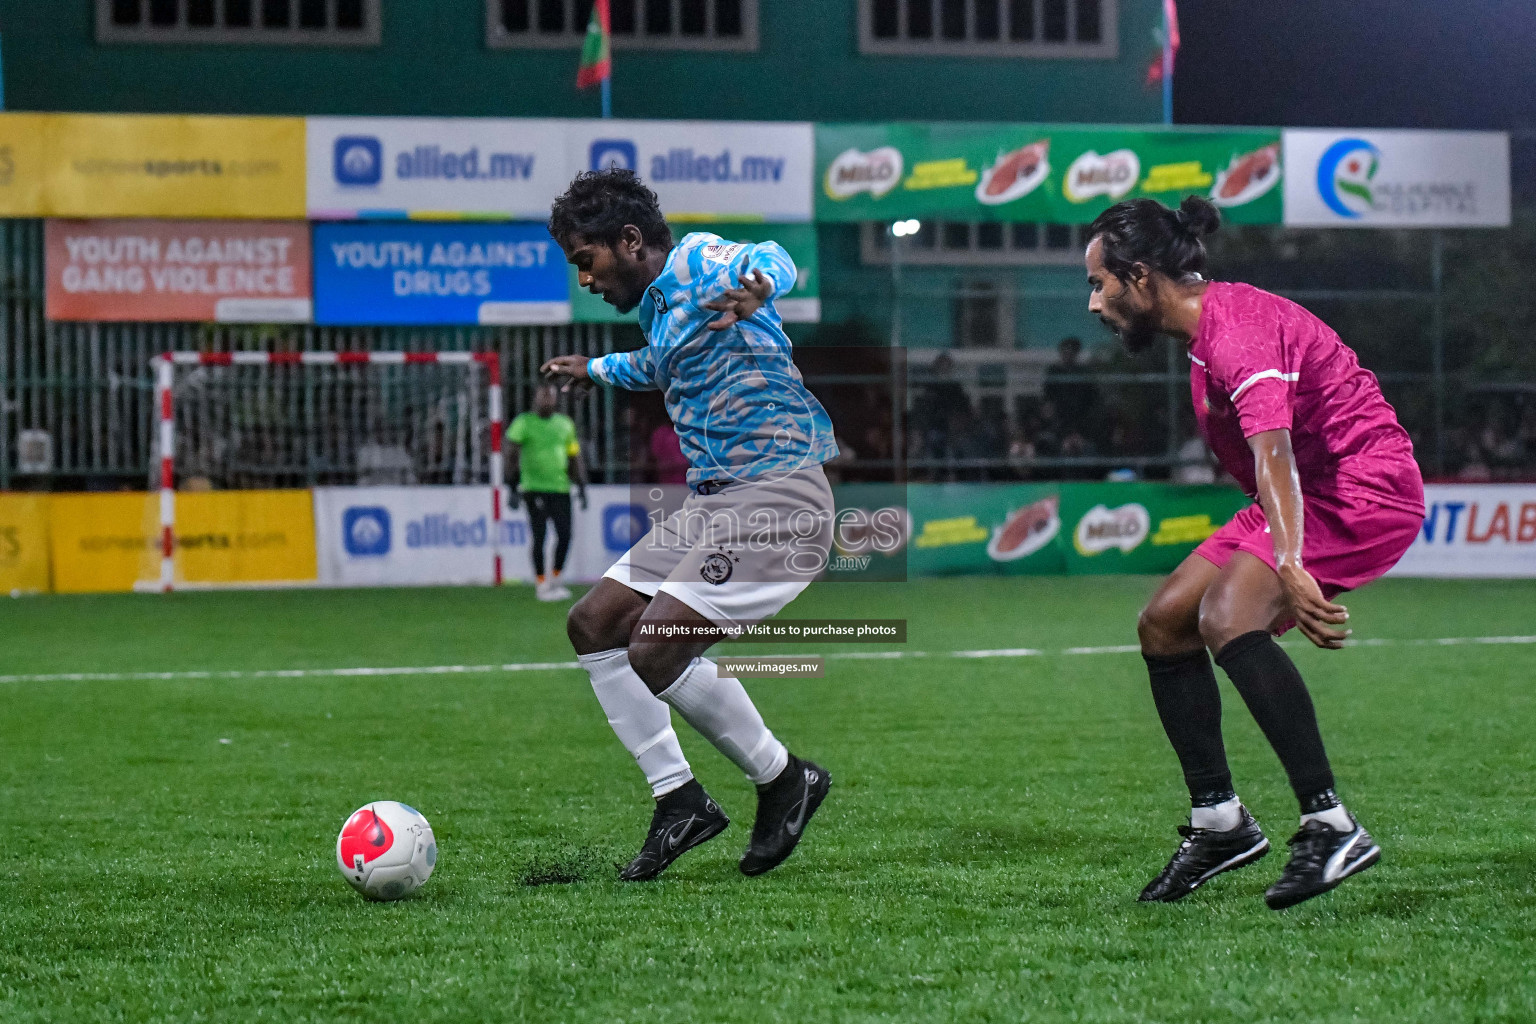
<path fill-rule="evenodd" d="M 160 496 L 55 494 L 54 590 L 127 591 L 160 577 Z M 177 582 L 303 583 L 316 579 L 309 491 L 177 494 Z"/>

